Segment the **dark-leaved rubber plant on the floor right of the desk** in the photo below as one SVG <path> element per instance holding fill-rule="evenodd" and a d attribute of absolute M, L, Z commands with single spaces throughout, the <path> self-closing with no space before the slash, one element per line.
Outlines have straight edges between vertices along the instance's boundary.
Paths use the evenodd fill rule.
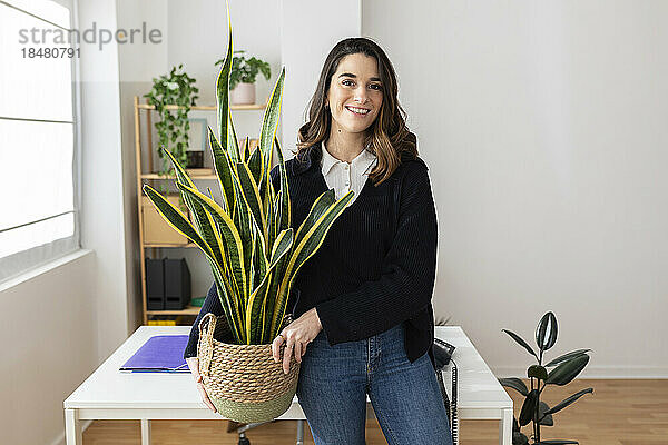
<path fill-rule="evenodd" d="M 529 389 L 520 378 L 512 377 L 499 379 L 501 385 L 512 388 L 525 397 L 522 408 L 520 409 L 519 419 L 513 418 L 513 445 L 528 445 L 530 443 L 529 437 L 521 432 L 521 427 L 529 423 L 532 424 L 533 431 L 531 444 L 578 444 L 577 441 L 572 439 L 543 441 L 540 437 L 540 427 L 553 426 L 553 414 L 571 405 L 584 394 L 593 393 L 593 388 L 579 390 L 552 407 L 542 402 L 540 396 L 548 385 L 563 386 L 572 382 L 572 379 L 576 378 L 589 363 L 588 353 L 591 349 L 573 350 L 543 365 L 543 353 L 557 343 L 557 317 L 551 312 L 542 316 L 536 328 L 538 354 L 522 337 L 512 330 L 503 329 L 503 332 L 522 346 L 538 362 L 527 369 L 527 377 L 530 379 L 531 389 Z"/>

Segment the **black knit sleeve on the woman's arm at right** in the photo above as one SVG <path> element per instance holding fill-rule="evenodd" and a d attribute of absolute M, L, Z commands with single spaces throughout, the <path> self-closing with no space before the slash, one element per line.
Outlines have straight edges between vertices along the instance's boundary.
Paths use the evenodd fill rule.
<path fill-rule="evenodd" d="M 424 162 L 403 167 L 396 233 L 381 276 L 315 306 L 330 345 L 383 333 L 431 303 L 438 244 L 434 200 Z"/>

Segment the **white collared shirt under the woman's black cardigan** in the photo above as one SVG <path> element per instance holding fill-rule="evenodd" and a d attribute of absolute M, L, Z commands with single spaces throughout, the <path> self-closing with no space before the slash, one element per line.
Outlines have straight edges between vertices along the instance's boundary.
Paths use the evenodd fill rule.
<path fill-rule="evenodd" d="M 325 182 L 327 184 L 327 188 L 334 189 L 336 199 L 340 199 L 350 190 L 353 190 L 355 195 L 350 202 L 353 204 L 355 199 L 357 199 L 357 196 L 360 196 L 369 174 L 373 170 L 377 161 L 376 156 L 367 149 L 364 149 L 348 164 L 333 157 L 330 151 L 327 151 L 325 142 L 323 142 L 322 146 L 323 157 L 321 159 L 321 170 L 325 178 Z"/>

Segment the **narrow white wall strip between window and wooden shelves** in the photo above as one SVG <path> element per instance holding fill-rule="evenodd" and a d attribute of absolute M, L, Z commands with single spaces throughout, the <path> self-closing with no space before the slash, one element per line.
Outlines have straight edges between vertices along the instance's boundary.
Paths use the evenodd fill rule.
<path fill-rule="evenodd" d="M 116 1 L 81 1 L 79 28 L 115 30 Z M 118 46 L 81 44 L 81 246 L 95 250 L 92 274 L 98 360 L 135 326 L 128 300 Z"/>

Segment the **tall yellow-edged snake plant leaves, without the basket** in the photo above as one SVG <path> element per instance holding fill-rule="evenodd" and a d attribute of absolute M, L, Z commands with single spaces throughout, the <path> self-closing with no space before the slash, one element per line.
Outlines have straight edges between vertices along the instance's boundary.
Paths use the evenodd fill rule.
<path fill-rule="evenodd" d="M 169 150 L 164 151 L 171 160 L 176 185 L 193 222 L 149 185 L 143 189 L 165 220 L 204 251 L 234 343 L 259 345 L 271 343 L 283 328 L 296 274 L 320 248 L 353 192 L 338 200 L 333 189 L 323 192 L 299 228 L 293 229 L 286 169 L 276 139 L 285 68 L 265 109 L 259 145 L 249 152 L 247 139 L 244 145 L 237 142 L 229 112 L 233 60 L 229 12 L 228 23 L 227 57 L 216 82 L 219 137 L 208 127 L 222 201 L 216 202 L 210 190 L 209 196 L 199 191 Z M 279 184 L 276 188 L 269 171 L 274 148 L 278 157 L 278 167 L 274 170 Z"/>

